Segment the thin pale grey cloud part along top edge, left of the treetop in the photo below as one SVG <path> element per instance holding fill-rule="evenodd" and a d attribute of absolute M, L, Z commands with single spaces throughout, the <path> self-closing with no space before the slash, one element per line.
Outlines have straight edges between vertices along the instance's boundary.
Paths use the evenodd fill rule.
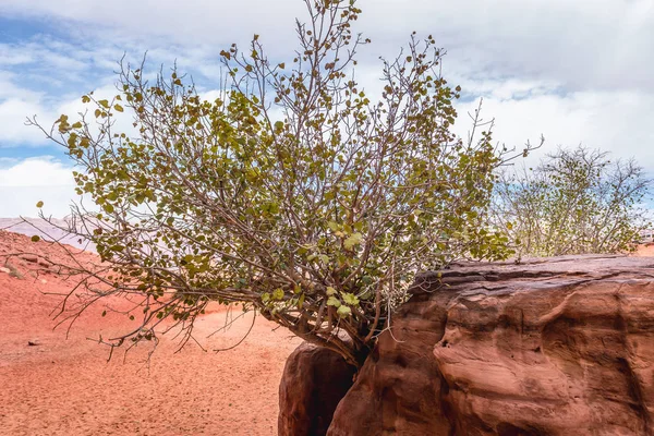
<path fill-rule="evenodd" d="M 155 8 L 130 0 L 0 0 L 0 12 L 83 22 L 87 25 L 76 27 L 80 34 L 113 33 L 118 43 L 164 37 L 167 43 L 211 46 L 249 38 L 257 32 L 268 34 L 277 46 L 293 37 L 294 17 L 303 15 L 304 8 L 301 1 L 293 0 L 190 0 L 183 5 L 162 0 Z"/>

